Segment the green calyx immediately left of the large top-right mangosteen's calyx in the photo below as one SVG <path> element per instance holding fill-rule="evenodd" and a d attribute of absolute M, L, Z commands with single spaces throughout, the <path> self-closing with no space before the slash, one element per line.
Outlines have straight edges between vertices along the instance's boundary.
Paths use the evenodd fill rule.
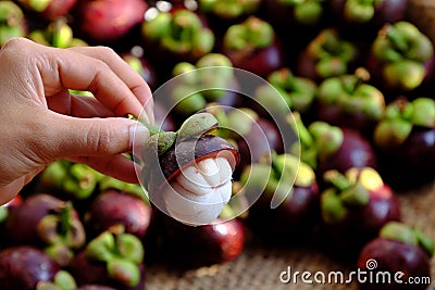
<path fill-rule="evenodd" d="M 357 48 L 340 39 L 334 28 L 323 29 L 308 46 L 309 53 L 316 60 L 316 72 L 323 77 L 343 75 L 348 63 L 357 58 Z"/>

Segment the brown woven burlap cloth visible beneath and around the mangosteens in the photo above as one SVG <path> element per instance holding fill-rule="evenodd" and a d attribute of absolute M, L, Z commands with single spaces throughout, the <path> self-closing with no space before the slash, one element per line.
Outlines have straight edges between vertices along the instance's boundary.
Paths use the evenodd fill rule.
<path fill-rule="evenodd" d="M 408 17 L 435 42 L 435 0 L 409 0 Z M 435 181 L 423 188 L 400 192 L 403 220 L 410 226 L 420 227 L 435 239 Z M 356 279 L 351 283 L 284 283 L 279 280 L 282 272 L 291 267 L 300 273 L 307 270 L 338 272 L 352 270 L 313 247 L 288 247 L 274 249 L 261 247 L 248 240 L 244 252 L 233 262 L 189 270 L 177 270 L 171 265 L 151 265 L 147 269 L 148 290 L 279 290 L 279 289 L 358 289 Z M 345 276 L 346 277 L 346 276 Z M 435 289 L 435 259 L 432 260 L 433 283 Z"/>

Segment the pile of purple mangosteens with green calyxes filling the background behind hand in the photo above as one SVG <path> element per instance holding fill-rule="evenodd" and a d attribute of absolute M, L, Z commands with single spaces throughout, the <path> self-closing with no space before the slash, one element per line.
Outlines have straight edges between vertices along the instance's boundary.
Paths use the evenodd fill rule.
<path fill-rule="evenodd" d="M 144 77 L 157 136 L 170 138 L 154 148 L 163 178 L 181 169 L 171 138 L 213 115 L 220 127 L 200 126 L 194 159 L 229 151 L 232 199 L 246 196 L 191 226 L 149 199 L 162 181 L 152 171 L 144 188 L 59 160 L 0 207 L 1 289 L 145 289 L 147 265 L 221 264 L 251 240 L 430 277 L 433 241 L 403 223 L 397 198 L 435 180 L 434 46 L 411 1 L 0 1 L 0 47 L 108 46 Z"/>

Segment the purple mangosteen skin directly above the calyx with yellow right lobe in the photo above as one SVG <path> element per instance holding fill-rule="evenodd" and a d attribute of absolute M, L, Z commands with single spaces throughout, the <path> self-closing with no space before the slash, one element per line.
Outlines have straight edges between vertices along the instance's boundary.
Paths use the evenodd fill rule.
<path fill-rule="evenodd" d="M 355 129 L 347 127 L 340 129 L 344 136 L 341 147 L 325 160 L 319 161 L 316 175 L 323 176 L 328 169 L 345 173 L 352 167 L 376 168 L 376 155 L 369 140 Z"/>

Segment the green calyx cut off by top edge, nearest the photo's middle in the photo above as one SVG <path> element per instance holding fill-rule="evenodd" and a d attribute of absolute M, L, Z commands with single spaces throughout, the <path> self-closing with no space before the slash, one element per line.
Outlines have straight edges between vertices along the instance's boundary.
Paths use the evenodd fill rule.
<path fill-rule="evenodd" d="M 260 3 L 260 0 L 199 0 L 199 9 L 224 20 L 234 20 L 256 12 Z"/>

